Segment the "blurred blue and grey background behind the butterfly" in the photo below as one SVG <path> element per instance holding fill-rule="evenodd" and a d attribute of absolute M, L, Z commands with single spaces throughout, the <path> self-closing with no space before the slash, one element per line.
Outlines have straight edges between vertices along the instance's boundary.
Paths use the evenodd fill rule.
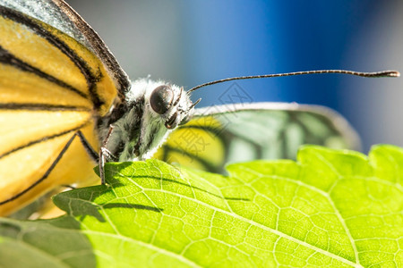
<path fill-rule="evenodd" d="M 67 0 L 99 32 L 132 80 L 192 88 L 288 71 L 403 71 L 403 1 Z M 253 102 L 329 106 L 373 144 L 403 147 L 403 78 L 325 74 L 237 82 Z M 201 89 L 219 105 L 231 83 Z"/>

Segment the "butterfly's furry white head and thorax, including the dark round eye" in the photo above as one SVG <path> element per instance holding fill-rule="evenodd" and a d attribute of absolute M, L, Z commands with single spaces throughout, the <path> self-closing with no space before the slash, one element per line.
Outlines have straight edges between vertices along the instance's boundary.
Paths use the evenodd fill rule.
<path fill-rule="evenodd" d="M 156 88 L 162 88 L 163 91 L 155 92 L 159 90 Z M 159 103 L 153 95 L 157 98 L 159 95 L 168 95 L 168 98 L 165 97 L 168 102 Z M 184 94 L 183 88 L 164 81 L 135 80 L 124 104 L 113 109 L 109 116 L 100 118 L 100 140 L 103 142 L 107 139 L 112 125 L 107 151 L 116 155 L 116 160 L 120 162 L 145 160 L 155 154 L 179 122 L 192 114 L 192 101 Z"/>

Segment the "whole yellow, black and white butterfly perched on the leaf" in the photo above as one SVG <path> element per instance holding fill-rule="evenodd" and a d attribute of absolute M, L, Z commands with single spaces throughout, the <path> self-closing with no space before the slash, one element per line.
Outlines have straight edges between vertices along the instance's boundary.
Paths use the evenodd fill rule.
<path fill-rule="evenodd" d="M 1 0 L 0 215 L 65 186 L 99 183 L 93 168 L 100 163 L 103 178 L 107 161 L 157 157 L 223 172 L 228 162 L 292 157 L 304 143 L 359 146 L 347 121 L 327 108 L 195 109 L 196 88 L 129 80 L 62 0 Z"/>

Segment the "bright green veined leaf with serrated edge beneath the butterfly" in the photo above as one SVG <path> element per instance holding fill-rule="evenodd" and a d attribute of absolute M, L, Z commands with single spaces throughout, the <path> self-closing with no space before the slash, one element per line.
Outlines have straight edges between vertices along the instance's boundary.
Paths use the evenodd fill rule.
<path fill-rule="evenodd" d="M 2 219 L 0 266 L 402 266 L 401 148 L 303 147 L 227 170 L 108 163 L 108 186 L 54 197 L 66 216 Z"/>

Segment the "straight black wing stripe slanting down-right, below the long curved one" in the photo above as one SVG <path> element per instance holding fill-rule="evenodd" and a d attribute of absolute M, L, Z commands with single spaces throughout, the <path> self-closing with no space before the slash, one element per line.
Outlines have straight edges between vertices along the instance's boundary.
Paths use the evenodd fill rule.
<path fill-rule="evenodd" d="M 75 94 L 78 94 L 79 96 L 82 96 L 82 97 L 88 99 L 88 96 L 85 93 L 78 90 L 77 88 L 73 88 L 73 86 L 65 83 L 62 80 L 56 79 L 56 77 L 53 77 L 44 71 L 40 71 L 38 68 L 31 66 L 28 63 L 24 63 L 19 58 L 17 58 L 13 54 L 9 53 L 7 50 L 5 50 L 2 46 L 0 46 L 0 63 L 11 65 L 13 67 L 20 69 L 21 71 L 29 71 L 29 72 L 39 76 L 40 78 L 48 80 L 48 81 L 56 84 L 57 86 L 71 90 Z"/>

